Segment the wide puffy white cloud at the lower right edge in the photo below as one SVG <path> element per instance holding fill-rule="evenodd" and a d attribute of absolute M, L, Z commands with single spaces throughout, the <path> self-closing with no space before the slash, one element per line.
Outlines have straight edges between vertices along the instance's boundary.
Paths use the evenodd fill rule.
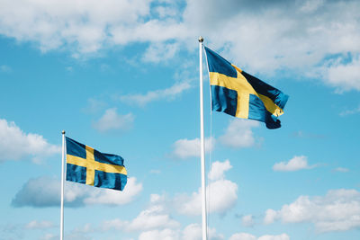
<path fill-rule="evenodd" d="M 331 190 L 325 196 L 300 196 L 282 209 L 266 211 L 265 223 L 313 223 L 319 232 L 346 231 L 360 227 L 360 192 Z"/>

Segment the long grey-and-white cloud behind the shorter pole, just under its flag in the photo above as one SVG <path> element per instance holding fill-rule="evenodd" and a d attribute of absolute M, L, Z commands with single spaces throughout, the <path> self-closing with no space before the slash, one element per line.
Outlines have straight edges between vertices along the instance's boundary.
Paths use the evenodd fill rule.
<path fill-rule="evenodd" d="M 92 188 L 92 191 L 88 191 Z M 83 207 L 90 204 L 117 206 L 129 203 L 139 192 L 142 184 L 130 177 L 124 191 L 94 188 L 84 184 L 65 182 L 64 204 L 67 207 Z M 30 179 L 16 193 L 12 200 L 14 207 L 58 207 L 60 204 L 60 181 L 55 178 L 40 177 Z"/>

